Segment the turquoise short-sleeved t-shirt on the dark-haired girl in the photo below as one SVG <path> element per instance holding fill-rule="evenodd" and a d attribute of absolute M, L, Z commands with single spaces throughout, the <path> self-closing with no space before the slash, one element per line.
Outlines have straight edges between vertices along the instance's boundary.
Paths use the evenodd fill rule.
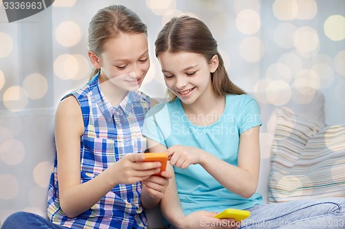
<path fill-rule="evenodd" d="M 188 118 L 200 120 L 207 116 Z M 262 124 L 259 105 L 248 95 L 227 95 L 224 113 L 210 126 L 198 127 L 188 118 L 177 98 L 148 111 L 143 133 L 168 148 L 175 144 L 194 146 L 237 166 L 239 135 Z M 186 169 L 174 166 L 174 169 L 179 199 L 186 215 L 197 210 L 220 212 L 225 208 L 246 209 L 262 204 L 259 193 L 248 199 L 231 193 L 199 164 L 190 165 Z"/>

